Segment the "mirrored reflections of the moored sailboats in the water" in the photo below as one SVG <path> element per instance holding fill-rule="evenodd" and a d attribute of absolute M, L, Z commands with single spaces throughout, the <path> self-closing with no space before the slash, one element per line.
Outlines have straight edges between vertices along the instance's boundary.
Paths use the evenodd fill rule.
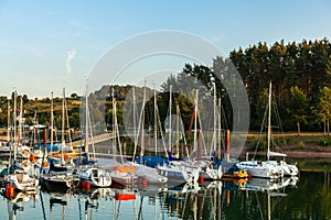
<path fill-rule="evenodd" d="M 252 178 L 180 186 L 81 186 L 62 191 L 39 188 L 35 195 L 3 194 L 0 211 L 9 212 L 9 219 L 18 211 L 26 219 L 270 219 L 278 217 L 275 209 L 286 204 L 286 195 L 298 189 L 297 180 Z"/>

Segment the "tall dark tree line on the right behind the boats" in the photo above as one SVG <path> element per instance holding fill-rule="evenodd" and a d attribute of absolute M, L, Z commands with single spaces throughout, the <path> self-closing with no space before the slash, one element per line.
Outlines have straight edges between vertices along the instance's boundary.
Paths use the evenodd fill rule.
<path fill-rule="evenodd" d="M 206 67 L 185 64 L 179 76 L 169 77 L 169 85 L 184 85 L 191 76 L 209 92 L 217 87 L 217 97 L 224 97 L 225 119 L 233 123 L 232 108 L 222 81 L 238 72 L 246 87 L 250 107 L 250 130 L 260 129 L 267 89 L 273 81 L 274 111 L 282 121 L 284 131 L 327 131 L 331 117 L 331 43 L 328 38 L 300 43 L 284 41 L 273 45 L 259 42 L 243 50 L 234 50 L 228 57 L 217 56 Z M 235 85 L 234 85 L 235 87 Z"/>

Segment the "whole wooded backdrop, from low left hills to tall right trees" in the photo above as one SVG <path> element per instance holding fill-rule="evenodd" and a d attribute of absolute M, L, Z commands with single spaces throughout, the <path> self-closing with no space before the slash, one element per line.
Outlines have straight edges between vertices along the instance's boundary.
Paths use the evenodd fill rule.
<path fill-rule="evenodd" d="M 191 92 L 184 91 L 185 88 L 199 88 L 202 94 L 213 95 L 215 86 L 217 98 L 222 98 L 222 114 L 224 114 L 222 123 L 224 128 L 232 129 L 234 117 L 228 91 L 223 81 L 231 78 L 231 75 L 235 72 L 242 77 L 242 82 L 247 90 L 250 131 L 260 130 L 267 103 L 268 85 L 271 81 L 273 110 L 279 116 L 284 132 L 329 133 L 331 117 L 331 43 L 328 38 L 303 40 L 300 43 L 280 41 L 273 45 L 258 42 L 247 48 L 232 51 L 228 57 L 214 57 L 212 66 L 185 64 L 180 74 L 172 75 L 164 81 L 161 91 L 157 95 L 161 121 L 164 120 L 168 113 L 170 85 L 178 89 L 174 100 L 180 106 L 185 129 L 190 127 L 190 119 L 194 109 L 193 102 L 183 96 Z M 196 81 L 202 86 L 192 86 Z M 103 109 L 104 114 L 96 117 L 105 117 L 100 120 L 105 120 L 108 128 L 111 128 L 114 121 L 111 98 L 116 98 L 118 121 L 119 124 L 122 124 L 121 108 L 131 88 L 130 85 L 105 85 L 100 90 L 90 95 L 89 101 L 92 103 L 89 105 L 95 109 Z M 106 100 L 104 99 L 105 92 L 107 94 Z M 152 89 L 148 89 L 148 92 L 152 92 Z M 137 96 L 140 96 L 140 100 L 142 94 L 143 89 L 137 88 Z M 26 124 L 34 123 L 35 119 L 39 120 L 39 123 L 49 123 L 51 118 L 51 101 L 49 98 L 29 99 L 25 95 L 20 97 L 23 100 Z M 12 99 L 10 105 L 13 105 Z M 79 129 L 81 125 L 79 105 L 81 99 L 76 94 L 67 98 L 70 124 L 76 129 Z M 147 102 L 148 106 L 153 108 L 152 99 Z M 54 108 L 56 124 L 60 129 L 61 98 L 54 99 Z M 7 127 L 7 97 L 0 97 L 1 127 Z M 152 124 L 153 111 L 151 109 L 147 110 L 146 114 L 149 114 L 145 119 L 147 120 L 146 124 Z"/>

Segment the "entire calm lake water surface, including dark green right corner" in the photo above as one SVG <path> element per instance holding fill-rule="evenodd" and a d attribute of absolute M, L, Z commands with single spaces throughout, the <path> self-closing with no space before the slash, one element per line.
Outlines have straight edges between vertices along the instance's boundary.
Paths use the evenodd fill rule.
<path fill-rule="evenodd" d="M 298 162 L 298 179 L 203 183 L 18 194 L 0 199 L 0 219 L 331 219 L 331 160 Z"/>

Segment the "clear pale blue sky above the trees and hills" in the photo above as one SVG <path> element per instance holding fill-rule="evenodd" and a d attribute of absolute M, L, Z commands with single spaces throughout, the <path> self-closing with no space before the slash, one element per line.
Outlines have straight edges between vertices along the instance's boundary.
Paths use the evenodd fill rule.
<path fill-rule="evenodd" d="M 0 96 L 18 90 L 29 98 L 51 91 L 56 97 L 63 87 L 82 95 L 85 78 L 109 48 L 159 30 L 195 34 L 223 56 L 258 42 L 330 40 L 330 11 L 327 0 L 0 0 Z M 141 81 L 141 66 L 149 63 L 158 64 L 132 65 L 116 82 Z M 185 61 L 170 63 L 180 70 Z"/>

